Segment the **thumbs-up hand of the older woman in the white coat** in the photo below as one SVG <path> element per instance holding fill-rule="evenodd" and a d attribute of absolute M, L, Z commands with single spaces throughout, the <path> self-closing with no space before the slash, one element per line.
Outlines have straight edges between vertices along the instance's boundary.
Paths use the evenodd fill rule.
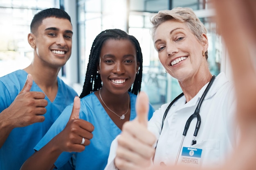
<path fill-rule="evenodd" d="M 115 166 L 119 170 L 148 168 L 153 164 L 156 137 L 147 129 L 148 109 L 148 96 L 140 92 L 136 100 L 137 117 L 123 125 L 117 138 Z"/>

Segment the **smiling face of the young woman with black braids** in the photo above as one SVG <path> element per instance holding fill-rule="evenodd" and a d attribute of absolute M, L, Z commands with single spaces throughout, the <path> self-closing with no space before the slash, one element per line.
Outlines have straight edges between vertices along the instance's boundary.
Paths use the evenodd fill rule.
<path fill-rule="evenodd" d="M 134 44 L 127 39 L 104 42 L 99 62 L 103 87 L 116 94 L 128 92 L 139 68 Z"/>

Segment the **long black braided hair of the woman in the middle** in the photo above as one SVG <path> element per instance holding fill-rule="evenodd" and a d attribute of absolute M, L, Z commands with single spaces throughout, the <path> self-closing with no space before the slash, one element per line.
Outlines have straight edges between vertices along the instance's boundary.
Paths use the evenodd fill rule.
<path fill-rule="evenodd" d="M 99 90 L 102 87 L 101 76 L 97 73 L 97 66 L 99 64 L 102 45 L 105 41 L 109 39 L 128 39 L 132 42 L 132 44 L 135 45 L 135 48 L 137 50 L 137 61 L 139 62 L 139 70 L 136 74 L 133 85 L 129 89 L 129 92 L 137 95 L 141 89 L 142 53 L 138 40 L 134 36 L 128 35 L 125 31 L 122 31 L 120 29 L 108 29 L 99 33 L 99 35 L 97 35 L 92 43 L 92 48 L 89 55 L 89 62 L 85 75 L 85 82 L 80 98 L 83 98 L 88 94 Z"/>

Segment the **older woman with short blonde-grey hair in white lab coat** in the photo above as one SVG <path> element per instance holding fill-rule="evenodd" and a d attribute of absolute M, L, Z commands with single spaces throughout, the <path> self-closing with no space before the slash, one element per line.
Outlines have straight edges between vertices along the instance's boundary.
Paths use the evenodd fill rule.
<path fill-rule="evenodd" d="M 225 74 L 209 71 L 207 29 L 190 8 L 159 11 L 151 22 L 159 60 L 183 94 L 155 111 L 148 126 L 139 117 L 124 124 L 112 143 L 106 170 L 153 164 L 220 166 L 235 144 L 236 101 Z"/>

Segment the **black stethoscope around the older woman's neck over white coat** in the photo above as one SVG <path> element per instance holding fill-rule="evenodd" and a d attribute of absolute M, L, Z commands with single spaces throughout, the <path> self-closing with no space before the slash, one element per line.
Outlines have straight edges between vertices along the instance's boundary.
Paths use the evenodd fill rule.
<path fill-rule="evenodd" d="M 190 126 L 190 123 L 191 121 L 194 119 L 194 118 L 197 118 L 197 122 L 196 122 L 196 126 L 195 126 L 195 132 L 194 132 L 194 137 L 193 137 L 193 140 L 191 142 L 191 145 L 194 145 L 196 144 L 196 140 L 195 140 L 195 137 L 198 135 L 198 131 L 199 131 L 199 128 L 200 128 L 200 125 L 201 125 L 201 116 L 199 114 L 200 112 L 200 108 L 201 108 L 201 105 L 202 105 L 202 102 L 204 100 L 204 97 L 206 96 L 207 92 L 209 91 L 209 89 L 211 88 L 211 85 L 215 79 L 215 75 L 212 76 L 211 78 L 211 81 L 209 82 L 209 84 L 207 85 L 206 89 L 204 90 L 204 93 L 202 94 L 202 97 L 200 98 L 199 102 L 198 102 L 198 105 L 197 107 L 195 108 L 195 111 L 194 113 L 189 117 L 189 119 L 186 121 L 186 125 L 184 127 L 184 131 L 183 131 L 183 136 L 182 136 L 182 141 L 180 143 L 180 148 L 179 148 L 179 151 L 178 151 L 178 154 L 177 154 L 177 157 L 176 157 L 176 160 L 175 160 L 175 165 L 177 164 L 177 161 L 179 159 L 179 155 L 180 155 L 180 151 L 181 151 L 181 148 L 182 148 L 182 144 L 183 144 L 183 140 L 184 140 L 184 137 L 186 136 L 186 133 L 187 131 L 189 130 L 189 126 Z M 165 112 L 164 112 L 164 117 L 163 117 L 163 120 L 162 120 L 162 129 L 163 129 L 163 126 L 164 126 L 164 120 L 167 116 L 167 113 L 169 111 L 169 109 L 171 108 L 171 106 L 173 105 L 173 103 L 175 103 L 179 98 L 181 98 L 184 94 L 181 93 L 179 96 L 177 96 L 169 105 L 168 107 L 166 108 Z M 161 131 L 162 131 L 161 129 Z"/>

